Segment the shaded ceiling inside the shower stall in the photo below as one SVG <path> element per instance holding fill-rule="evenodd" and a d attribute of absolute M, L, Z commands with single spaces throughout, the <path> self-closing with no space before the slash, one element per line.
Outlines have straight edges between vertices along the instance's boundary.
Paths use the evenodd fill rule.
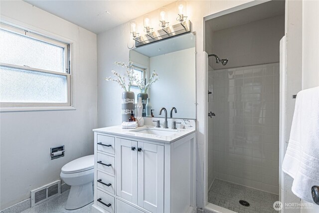
<path fill-rule="evenodd" d="M 211 31 L 285 14 L 284 0 L 271 0 L 207 20 Z"/>

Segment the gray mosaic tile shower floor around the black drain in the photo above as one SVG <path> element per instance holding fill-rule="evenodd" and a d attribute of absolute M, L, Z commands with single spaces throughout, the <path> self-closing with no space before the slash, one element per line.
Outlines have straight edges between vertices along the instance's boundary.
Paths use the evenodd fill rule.
<path fill-rule="evenodd" d="M 273 204 L 278 195 L 215 179 L 208 192 L 208 202 L 237 213 L 277 213 Z M 239 204 L 247 201 L 250 206 Z"/>

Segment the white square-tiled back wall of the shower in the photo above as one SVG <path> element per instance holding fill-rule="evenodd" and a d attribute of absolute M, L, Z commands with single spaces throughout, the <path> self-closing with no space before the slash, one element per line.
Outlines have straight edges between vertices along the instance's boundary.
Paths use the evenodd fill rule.
<path fill-rule="evenodd" d="M 278 194 L 279 63 L 215 70 L 209 79 L 214 178 Z"/>

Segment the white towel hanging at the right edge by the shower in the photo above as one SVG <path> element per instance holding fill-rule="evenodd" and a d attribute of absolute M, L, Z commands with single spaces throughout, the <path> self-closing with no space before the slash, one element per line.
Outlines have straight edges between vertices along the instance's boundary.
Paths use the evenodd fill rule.
<path fill-rule="evenodd" d="M 319 186 L 319 87 L 297 94 L 293 123 L 282 169 L 294 178 L 292 191 L 314 203 L 311 188 Z"/>

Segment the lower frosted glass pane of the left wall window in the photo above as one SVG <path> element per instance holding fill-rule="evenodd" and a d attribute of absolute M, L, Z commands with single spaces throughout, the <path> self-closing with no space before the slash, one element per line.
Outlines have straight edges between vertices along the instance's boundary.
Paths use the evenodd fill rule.
<path fill-rule="evenodd" d="M 67 76 L 0 66 L 0 102 L 67 103 Z"/>

